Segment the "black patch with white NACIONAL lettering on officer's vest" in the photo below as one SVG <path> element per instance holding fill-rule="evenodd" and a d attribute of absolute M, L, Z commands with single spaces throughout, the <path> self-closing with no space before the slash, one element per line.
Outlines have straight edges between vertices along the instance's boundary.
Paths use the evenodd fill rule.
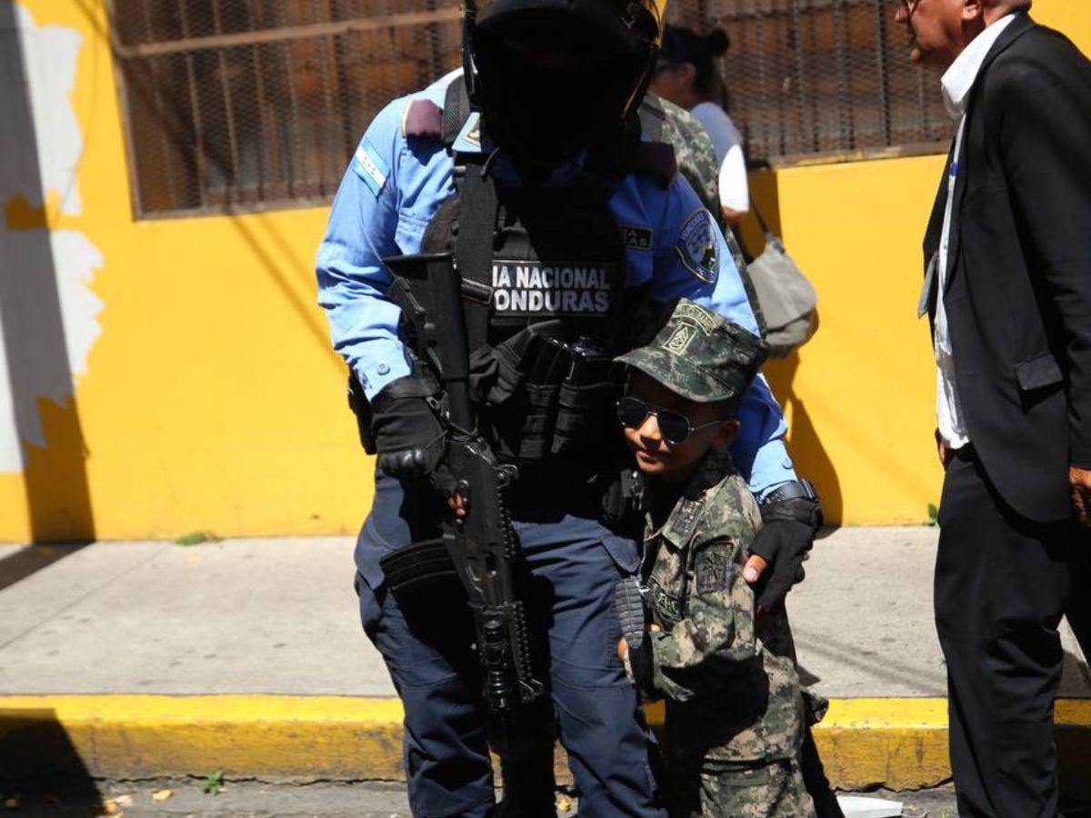
<path fill-rule="evenodd" d="M 492 263 L 492 309 L 497 315 L 591 316 L 610 312 L 616 265 Z"/>

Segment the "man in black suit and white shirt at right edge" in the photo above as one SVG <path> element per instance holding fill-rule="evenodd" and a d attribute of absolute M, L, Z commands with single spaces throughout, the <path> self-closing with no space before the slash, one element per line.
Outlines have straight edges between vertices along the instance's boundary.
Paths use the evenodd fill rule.
<path fill-rule="evenodd" d="M 1091 647 L 1091 63 L 1028 0 L 899 0 L 958 136 L 921 314 L 946 469 L 936 626 L 959 813 L 1056 816 L 1067 615 Z M 1082 525 L 1081 525 L 1082 524 Z"/>

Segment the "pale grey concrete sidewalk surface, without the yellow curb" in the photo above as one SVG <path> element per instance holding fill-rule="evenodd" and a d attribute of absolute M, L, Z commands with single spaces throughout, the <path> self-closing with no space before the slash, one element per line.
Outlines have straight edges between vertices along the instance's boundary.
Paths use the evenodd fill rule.
<path fill-rule="evenodd" d="M 935 548 L 933 528 L 816 543 L 789 598 L 806 682 L 830 698 L 946 694 Z M 0 695 L 394 696 L 352 576 L 349 538 L 0 546 Z M 1062 695 L 1091 698 L 1064 640 Z"/>

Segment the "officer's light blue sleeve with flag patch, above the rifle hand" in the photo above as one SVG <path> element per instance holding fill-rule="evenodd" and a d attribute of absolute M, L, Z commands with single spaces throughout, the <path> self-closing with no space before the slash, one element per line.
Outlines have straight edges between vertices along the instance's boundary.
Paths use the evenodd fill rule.
<path fill-rule="evenodd" d="M 395 100 L 372 121 L 345 172 L 319 245 L 319 304 L 326 311 L 334 349 L 373 398 L 409 374 L 398 338 L 400 310 L 386 298 L 389 273 L 382 258 L 399 251 L 397 164 L 401 109 Z"/>

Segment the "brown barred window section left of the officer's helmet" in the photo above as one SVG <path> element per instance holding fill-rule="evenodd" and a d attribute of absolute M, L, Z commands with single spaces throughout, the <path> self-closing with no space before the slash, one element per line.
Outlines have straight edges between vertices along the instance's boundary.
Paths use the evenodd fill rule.
<path fill-rule="evenodd" d="M 371 119 L 459 64 L 437 0 L 112 0 L 137 215 L 328 202 Z"/>

